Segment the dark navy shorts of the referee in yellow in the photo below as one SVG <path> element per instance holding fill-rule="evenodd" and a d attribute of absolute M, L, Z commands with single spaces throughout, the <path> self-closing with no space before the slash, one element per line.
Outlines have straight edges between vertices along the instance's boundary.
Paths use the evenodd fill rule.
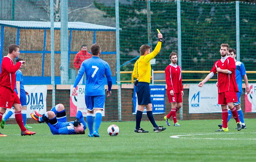
<path fill-rule="evenodd" d="M 151 102 L 149 83 L 147 82 L 138 82 L 135 87 L 135 91 L 138 98 L 138 105 L 148 105 Z"/>

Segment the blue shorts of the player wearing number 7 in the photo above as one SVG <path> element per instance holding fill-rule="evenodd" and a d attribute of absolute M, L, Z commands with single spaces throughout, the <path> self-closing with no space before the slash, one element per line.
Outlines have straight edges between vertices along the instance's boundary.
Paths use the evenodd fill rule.
<path fill-rule="evenodd" d="M 105 95 L 97 96 L 85 96 L 85 104 L 87 110 L 92 111 L 93 109 L 104 109 Z"/>

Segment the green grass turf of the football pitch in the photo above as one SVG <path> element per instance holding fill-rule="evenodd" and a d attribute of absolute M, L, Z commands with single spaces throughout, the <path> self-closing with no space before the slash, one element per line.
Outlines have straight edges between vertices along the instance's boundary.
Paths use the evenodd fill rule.
<path fill-rule="evenodd" d="M 100 138 L 85 135 L 52 135 L 46 124 L 29 124 L 34 136 L 20 136 L 18 125 L 5 125 L 0 131 L 1 161 L 255 161 L 255 119 L 246 119 L 247 129 L 237 131 L 234 119 L 229 132 L 214 132 L 220 120 L 184 120 L 181 127 L 167 127 L 155 133 L 150 122 L 141 122 L 149 133 L 134 133 L 135 122 L 103 122 Z M 107 128 L 116 124 L 117 137 Z M 171 138 L 174 135 L 186 138 Z M 204 135 L 198 135 L 204 134 Z M 211 138 L 211 139 L 208 139 Z M 214 138 L 214 139 L 212 139 Z M 232 139 L 229 139 L 232 138 Z"/>

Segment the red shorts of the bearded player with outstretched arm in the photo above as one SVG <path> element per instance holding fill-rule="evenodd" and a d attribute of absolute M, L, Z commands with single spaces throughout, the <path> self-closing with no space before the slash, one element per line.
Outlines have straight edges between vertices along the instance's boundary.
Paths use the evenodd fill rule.
<path fill-rule="evenodd" d="M 218 94 L 218 104 L 227 105 L 231 102 L 237 102 L 237 95 L 235 91 L 222 92 Z"/>

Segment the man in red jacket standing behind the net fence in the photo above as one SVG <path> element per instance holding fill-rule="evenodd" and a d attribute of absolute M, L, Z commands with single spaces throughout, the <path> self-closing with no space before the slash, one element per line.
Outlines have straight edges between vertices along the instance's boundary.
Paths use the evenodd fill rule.
<path fill-rule="evenodd" d="M 81 51 L 76 53 L 76 56 L 75 56 L 75 59 L 74 59 L 74 67 L 76 68 L 76 70 L 80 69 L 81 64 L 84 60 L 90 59 L 91 57 L 92 57 L 92 55 L 87 52 L 87 46 L 85 44 L 83 44 L 81 46 Z M 83 75 L 82 78 L 84 78 L 84 76 L 85 75 Z M 85 78 L 81 79 L 78 84 L 83 84 L 83 81 L 85 81 Z"/>

